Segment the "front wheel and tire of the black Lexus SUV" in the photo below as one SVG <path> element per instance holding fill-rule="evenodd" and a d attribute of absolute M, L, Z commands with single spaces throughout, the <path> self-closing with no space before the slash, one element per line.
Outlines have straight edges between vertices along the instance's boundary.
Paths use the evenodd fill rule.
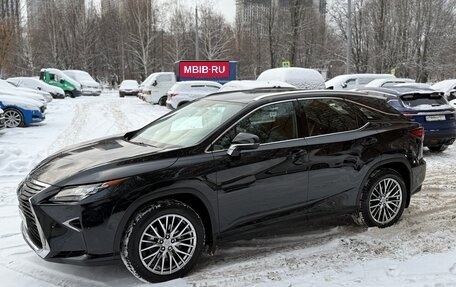
<path fill-rule="evenodd" d="M 138 279 L 168 281 L 193 268 L 204 240 L 201 218 L 190 206 L 174 200 L 159 201 L 133 217 L 123 236 L 121 257 Z"/>

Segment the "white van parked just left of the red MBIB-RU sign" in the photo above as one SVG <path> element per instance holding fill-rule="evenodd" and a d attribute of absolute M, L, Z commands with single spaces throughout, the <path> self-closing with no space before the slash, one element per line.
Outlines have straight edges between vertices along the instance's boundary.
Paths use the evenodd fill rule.
<path fill-rule="evenodd" d="M 176 75 L 173 72 L 152 73 L 141 84 L 141 97 L 151 104 L 166 105 L 168 91 L 176 83 Z"/>

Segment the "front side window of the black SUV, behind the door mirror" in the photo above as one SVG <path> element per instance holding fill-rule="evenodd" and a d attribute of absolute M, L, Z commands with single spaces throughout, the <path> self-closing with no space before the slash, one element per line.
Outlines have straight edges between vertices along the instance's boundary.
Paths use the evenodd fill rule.
<path fill-rule="evenodd" d="M 257 135 L 260 143 L 297 138 L 298 128 L 293 102 L 267 105 L 246 116 L 215 143 L 214 150 L 228 149 L 234 137 L 241 132 Z"/>

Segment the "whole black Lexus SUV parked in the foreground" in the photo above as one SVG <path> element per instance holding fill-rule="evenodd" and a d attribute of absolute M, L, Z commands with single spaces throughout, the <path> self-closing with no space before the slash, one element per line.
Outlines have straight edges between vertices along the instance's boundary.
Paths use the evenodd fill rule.
<path fill-rule="evenodd" d="M 45 260 L 121 257 L 170 280 L 230 232 L 286 215 L 394 224 L 425 177 L 423 135 L 360 92 L 213 94 L 45 159 L 17 191 L 22 232 Z"/>

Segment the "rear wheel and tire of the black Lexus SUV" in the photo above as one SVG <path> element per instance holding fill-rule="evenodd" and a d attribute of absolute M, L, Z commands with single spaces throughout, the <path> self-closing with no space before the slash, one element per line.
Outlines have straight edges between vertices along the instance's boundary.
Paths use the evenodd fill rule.
<path fill-rule="evenodd" d="M 363 187 L 355 222 L 384 228 L 395 224 L 404 212 L 407 191 L 402 176 L 392 169 L 374 171 Z"/>

